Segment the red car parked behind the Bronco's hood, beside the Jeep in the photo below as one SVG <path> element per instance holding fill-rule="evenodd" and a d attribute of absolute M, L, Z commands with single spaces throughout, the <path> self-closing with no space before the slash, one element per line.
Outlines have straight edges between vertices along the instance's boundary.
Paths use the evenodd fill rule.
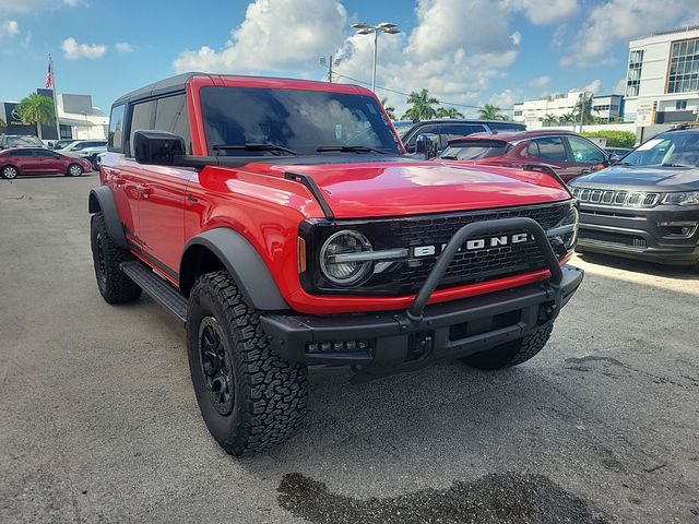
<path fill-rule="evenodd" d="M 439 158 L 518 168 L 546 166 L 566 182 L 615 160 L 584 136 L 554 130 L 471 134 L 450 140 Z"/>

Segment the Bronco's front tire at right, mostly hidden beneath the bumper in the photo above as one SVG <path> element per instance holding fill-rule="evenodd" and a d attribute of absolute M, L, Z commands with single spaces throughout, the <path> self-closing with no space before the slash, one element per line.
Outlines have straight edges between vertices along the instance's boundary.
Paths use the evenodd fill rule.
<path fill-rule="evenodd" d="M 460 360 L 476 369 L 502 369 L 511 368 L 525 362 L 541 352 L 550 336 L 554 323 L 541 326 L 517 341 L 506 342 L 486 352 L 476 353 Z"/>

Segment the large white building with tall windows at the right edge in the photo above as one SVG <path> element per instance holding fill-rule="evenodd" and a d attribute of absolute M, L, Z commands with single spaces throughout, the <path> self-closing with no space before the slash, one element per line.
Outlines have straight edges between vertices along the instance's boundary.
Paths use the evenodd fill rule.
<path fill-rule="evenodd" d="M 629 41 L 626 118 L 637 126 L 697 120 L 699 26 Z"/>

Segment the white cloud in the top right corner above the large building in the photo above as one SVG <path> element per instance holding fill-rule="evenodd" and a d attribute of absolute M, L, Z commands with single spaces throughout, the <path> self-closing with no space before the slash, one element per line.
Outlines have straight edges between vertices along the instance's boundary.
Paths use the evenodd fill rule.
<path fill-rule="evenodd" d="M 618 41 L 650 35 L 653 31 L 699 21 L 697 0 L 608 0 L 592 8 L 574 35 L 558 35 L 562 66 L 600 67 L 611 63 L 611 48 Z"/>

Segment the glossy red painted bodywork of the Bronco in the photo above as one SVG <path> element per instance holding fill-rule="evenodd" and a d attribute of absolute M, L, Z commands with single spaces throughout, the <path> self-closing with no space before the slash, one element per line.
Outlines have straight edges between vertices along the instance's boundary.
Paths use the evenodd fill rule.
<path fill-rule="evenodd" d="M 245 85 L 331 90 L 375 96 L 343 84 L 196 76 L 187 86 L 192 152 L 206 155 L 199 90 L 205 85 Z M 348 157 L 351 158 L 351 157 Z M 353 158 L 354 159 L 354 158 Z M 336 218 L 420 215 L 459 210 L 528 205 L 569 199 L 550 177 L 501 167 L 467 167 L 448 163 L 401 160 L 324 165 L 294 165 L 295 172 L 312 175 Z M 241 168 L 193 169 L 141 166 L 121 154 L 103 160 L 103 183 L 115 190 L 117 207 L 134 253 L 174 284 L 185 246 L 202 231 L 227 227 L 257 249 L 280 291 L 296 311 L 328 314 L 407 307 L 413 296 L 311 296 L 298 274 L 297 238 L 301 222 L 323 218 L 311 192 L 286 180 L 289 166 L 256 162 Z M 547 271 L 499 281 L 438 290 L 431 301 L 452 300 L 525 285 Z"/>

